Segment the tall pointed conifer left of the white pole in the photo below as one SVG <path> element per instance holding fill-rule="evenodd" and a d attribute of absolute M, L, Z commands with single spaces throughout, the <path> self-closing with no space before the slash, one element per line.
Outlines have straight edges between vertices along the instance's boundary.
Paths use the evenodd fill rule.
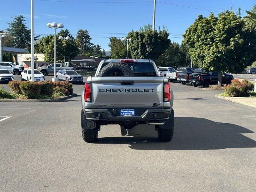
<path fill-rule="evenodd" d="M 8 23 L 8 34 L 13 36 L 13 46 L 18 48 L 30 48 L 30 29 L 26 26 L 26 20 L 24 16 L 20 15 L 13 17 L 13 20 Z M 34 40 L 37 40 L 39 36 L 35 36 Z"/>

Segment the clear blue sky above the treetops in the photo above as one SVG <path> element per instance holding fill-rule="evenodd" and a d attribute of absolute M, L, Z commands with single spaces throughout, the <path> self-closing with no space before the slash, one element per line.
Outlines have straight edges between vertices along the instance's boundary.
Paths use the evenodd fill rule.
<path fill-rule="evenodd" d="M 13 16 L 24 15 L 30 27 L 30 0 L 0 0 L 0 29 L 6 29 Z M 157 0 L 156 28 L 166 26 L 170 40 L 182 42 L 182 34 L 199 14 L 241 8 L 250 10 L 256 0 Z M 152 24 L 153 0 L 34 0 L 35 34 L 53 34 L 46 23 L 64 24 L 72 35 L 87 29 L 94 44 L 108 51 L 109 37 L 122 38 L 131 30 Z M 59 29 L 57 29 L 57 32 Z"/>

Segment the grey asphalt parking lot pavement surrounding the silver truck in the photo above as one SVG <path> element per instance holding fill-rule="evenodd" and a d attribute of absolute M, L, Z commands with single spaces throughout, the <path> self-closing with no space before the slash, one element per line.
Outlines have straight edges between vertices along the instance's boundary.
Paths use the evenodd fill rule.
<path fill-rule="evenodd" d="M 102 126 L 98 142 L 85 143 L 80 96 L 0 103 L 0 191 L 255 191 L 256 109 L 214 98 L 222 91 L 171 86 L 168 143 L 144 125 L 126 135 Z"/>

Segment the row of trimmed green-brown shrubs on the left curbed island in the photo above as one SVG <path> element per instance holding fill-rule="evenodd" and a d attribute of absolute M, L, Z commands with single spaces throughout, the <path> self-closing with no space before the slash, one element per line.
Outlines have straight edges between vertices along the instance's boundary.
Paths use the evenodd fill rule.
<path fill-rule="evenodd" d="M 28 99 L 57 98 L 73 93 L 72 84 L 68 82 L 11 81 L 8 86 L 14 94 L 22 94 Z"/>

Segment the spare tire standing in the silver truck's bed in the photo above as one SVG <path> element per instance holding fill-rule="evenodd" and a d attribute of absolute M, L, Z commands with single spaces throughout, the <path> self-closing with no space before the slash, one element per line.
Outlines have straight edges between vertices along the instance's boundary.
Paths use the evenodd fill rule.
<path fill-rule="evenodd" d="M 127 64 L 111 62 L 100 70 L 98 76 L 133 76 L 133 72 Z"/>

